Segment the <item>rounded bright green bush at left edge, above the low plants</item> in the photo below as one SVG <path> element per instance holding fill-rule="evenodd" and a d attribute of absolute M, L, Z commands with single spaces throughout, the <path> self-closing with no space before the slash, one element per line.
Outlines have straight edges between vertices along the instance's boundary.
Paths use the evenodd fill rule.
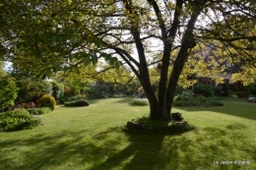
<path fill-rule="evenodd" d="M 14 78 L 0 76 L 0 109 L 8 106 L 14 106 L 15 99 L 18 96 L 19 87 Z"/>

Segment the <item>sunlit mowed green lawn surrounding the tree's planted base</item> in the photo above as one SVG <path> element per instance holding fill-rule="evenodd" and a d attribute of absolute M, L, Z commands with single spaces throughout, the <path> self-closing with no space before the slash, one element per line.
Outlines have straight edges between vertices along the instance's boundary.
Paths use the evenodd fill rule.
<path fill-rule="evenodd" d="M 175 107 L 196 129 L 164 135 L 124 131 L 127 121 L 149 115 L 149 106 L 131 106 L 130 100 L 58 106 L 41 115 L 41 126 L 1 132 L 0 169 L 256 169 L 255 103 L 229 99 L 223 107 Z"/>

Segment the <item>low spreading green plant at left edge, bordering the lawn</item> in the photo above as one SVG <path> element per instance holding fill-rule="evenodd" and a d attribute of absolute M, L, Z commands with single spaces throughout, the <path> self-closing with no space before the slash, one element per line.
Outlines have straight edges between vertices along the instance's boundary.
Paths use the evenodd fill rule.
<path fill-rule="evenodd" d="M 0 113 L 0 130 L 2 131 L 31 129 L 38 124 L 38 118 L 32 117 L 26 109 L 16 109 Z"/>

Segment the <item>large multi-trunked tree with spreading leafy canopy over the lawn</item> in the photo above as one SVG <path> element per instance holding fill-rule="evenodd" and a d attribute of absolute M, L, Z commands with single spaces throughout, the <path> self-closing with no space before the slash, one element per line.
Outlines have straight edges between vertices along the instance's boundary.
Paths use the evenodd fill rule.
<path fill-rule="evenodd" d="M 252 0 L 17 0 L 1 8 L 4 46 L 15 47 L 7 59 L 31 56 L 45 73 L 96 64 L 100 57 L 127 65 L 145 89 L 154 120 L 170 118 L 179 77 L 195 59 L 190 54 L 205 56 L 210 46 L 223 52 L 222 62 L 255 66 Z M 158 62 L 156 94 L 149 68 Z"/>

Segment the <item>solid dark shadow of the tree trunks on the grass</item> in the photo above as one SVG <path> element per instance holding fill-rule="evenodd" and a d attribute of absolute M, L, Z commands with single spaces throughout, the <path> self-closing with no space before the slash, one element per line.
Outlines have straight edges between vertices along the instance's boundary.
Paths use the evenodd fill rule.
<path fill-rule="evenodd" d="M 164 155 L 161 148 L 164 146 L 163 140 L 166 136 L 179 136 L 184 132 L 157 133 L 151 131 L 122 131 L 128 137 L 129 144 L 123 149 L 111 153 L 106 160 L 90 168 L 90 170 L 111 170 L 122 167 L 124 170 L 164 169 Z"/>

